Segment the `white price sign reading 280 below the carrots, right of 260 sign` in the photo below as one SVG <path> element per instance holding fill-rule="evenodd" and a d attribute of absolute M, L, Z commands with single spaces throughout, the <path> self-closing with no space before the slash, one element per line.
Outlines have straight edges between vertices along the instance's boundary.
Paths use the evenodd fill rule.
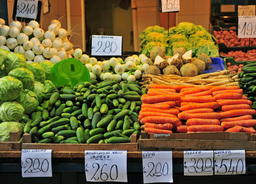
<path fill-rule="evenodd" d="M 142 151 L 144 183 L 173 183 L 173 152 Z"/>

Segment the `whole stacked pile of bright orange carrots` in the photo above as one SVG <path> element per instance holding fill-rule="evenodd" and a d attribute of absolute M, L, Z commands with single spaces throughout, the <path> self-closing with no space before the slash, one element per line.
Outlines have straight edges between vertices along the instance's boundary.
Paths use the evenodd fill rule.
<path fill-rule="evenodd" d="M 238 86 L 150 84 L 141 96 L 141 128 L 149 134 L 250 132 L 256 130 L 252 102 Z"/>

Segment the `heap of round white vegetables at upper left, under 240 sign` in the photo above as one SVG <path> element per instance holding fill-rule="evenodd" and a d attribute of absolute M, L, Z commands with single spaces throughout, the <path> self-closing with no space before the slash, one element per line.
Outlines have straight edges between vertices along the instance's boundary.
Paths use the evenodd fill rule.
<path fill-rule="evenodd" d="M 52 63 L 72 58 L 74 49 L 68 39 L 68 32 L 61 28 L 58 20 L 52 20 L 47 30 L 40 28 L 35 20 L 22 26 L 20 21 L 12 21 L 9 26 L 0 18 L 0 48 L 25 55 L 27 63 Z"/>

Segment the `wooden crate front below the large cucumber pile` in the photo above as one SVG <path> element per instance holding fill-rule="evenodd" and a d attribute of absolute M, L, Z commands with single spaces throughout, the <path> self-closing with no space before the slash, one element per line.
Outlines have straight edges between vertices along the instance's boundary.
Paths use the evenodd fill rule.
<path fill-rule="evenodd" d="M 138 151 L 137 135 L 133 134 L 130 143 L 122 144 L 36 144 L 31 143 L 31 136 L 24 134 L 24 142 L 21 144 L 23 149 L 47 149 L 52 151 L 85 151 L 85 150 L 126 150 Z"/>

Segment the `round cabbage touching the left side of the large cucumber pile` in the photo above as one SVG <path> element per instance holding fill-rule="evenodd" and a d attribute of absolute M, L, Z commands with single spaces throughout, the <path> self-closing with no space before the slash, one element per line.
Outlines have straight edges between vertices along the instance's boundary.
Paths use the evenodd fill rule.
<path fill-rule="evenodd" d="M 25 109 L 25 113 L 28 114 L 34 112 L 36 110 L 36 107 L 39 105 L 36 93 L 27 89 L 22 90 L 20 96 L 18 96 L 15 101 L 21 104 Z"/>

